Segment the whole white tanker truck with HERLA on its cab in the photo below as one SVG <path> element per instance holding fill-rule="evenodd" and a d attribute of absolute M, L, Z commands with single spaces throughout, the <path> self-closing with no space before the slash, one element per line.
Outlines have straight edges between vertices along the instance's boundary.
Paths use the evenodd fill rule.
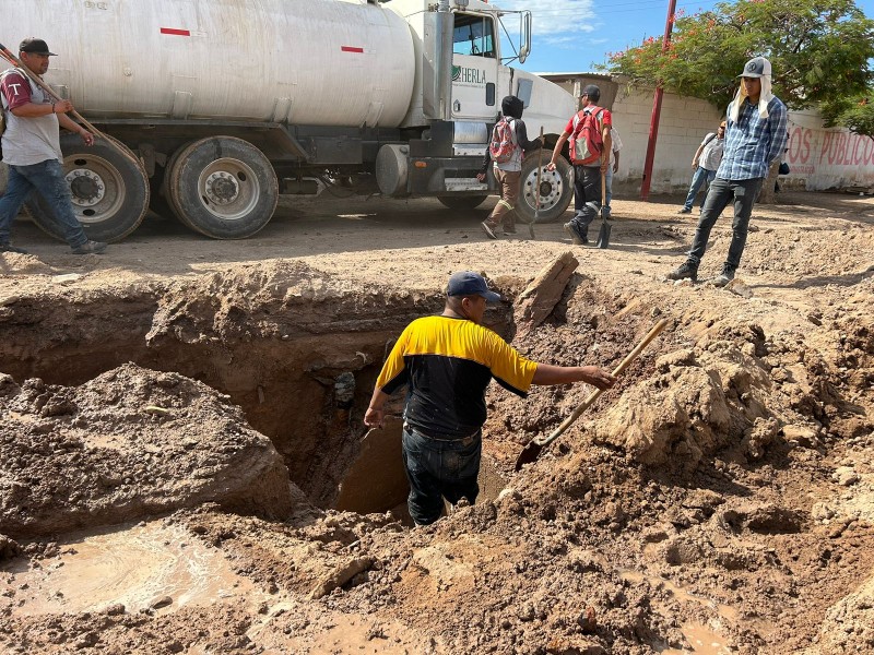
<path fill-rule="evenodd" d="M 0 41 L 45 38 L 58 52 L 46 81 L 107 135 L 93 147 L 61 138 L 93 239 L 122 239 L 150 202 L 206 236 L 245 238 L 279 193 L 316 193 L 319 179 L 476 206 L 494 188 L 475 174 L 504 95 L 527 102 L 529 130 L 543 126 L 547 143 L 575 109 L 501 63 L 508 12 L 476 0 L 29 0 L 3 13 Z M 523 60 L 530 14 L 509 15 Z M 523 212 L 535 191 L 541 216 L 564 212 L 572 184 L 560 164 L 539 190 L 528 164 Z M 42 200 L 31 210 L 60 238 Z"/>

